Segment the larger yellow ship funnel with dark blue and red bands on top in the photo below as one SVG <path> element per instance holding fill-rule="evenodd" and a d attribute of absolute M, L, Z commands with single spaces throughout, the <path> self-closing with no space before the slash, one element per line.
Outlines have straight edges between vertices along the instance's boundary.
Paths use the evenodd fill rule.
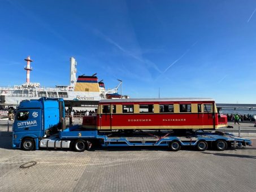
<path fill-rule="evenodd" d="M 96 76 L 79 76 L 75 91 L 99 92 L 98 78 Z"/>

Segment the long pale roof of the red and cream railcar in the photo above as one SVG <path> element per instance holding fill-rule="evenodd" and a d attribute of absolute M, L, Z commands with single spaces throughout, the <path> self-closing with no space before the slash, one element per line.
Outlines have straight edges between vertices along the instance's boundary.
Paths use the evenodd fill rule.
<path fill-rule="evenodd" d="M 136 98 L 136 99 L 102 99 L 99 103 L 125 103 L 125 102 L 186 102 L 186 101 L 214 101 L 212 98 Z"/>

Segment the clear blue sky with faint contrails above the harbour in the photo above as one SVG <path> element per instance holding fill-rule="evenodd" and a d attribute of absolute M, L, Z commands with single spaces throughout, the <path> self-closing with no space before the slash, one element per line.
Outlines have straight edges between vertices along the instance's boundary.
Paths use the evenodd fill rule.
<path fill-rule="evenodd" d="M 0 86 L 97 72 L 132 98 L 256 103 L 256 1 L 0 1 Z"/>

